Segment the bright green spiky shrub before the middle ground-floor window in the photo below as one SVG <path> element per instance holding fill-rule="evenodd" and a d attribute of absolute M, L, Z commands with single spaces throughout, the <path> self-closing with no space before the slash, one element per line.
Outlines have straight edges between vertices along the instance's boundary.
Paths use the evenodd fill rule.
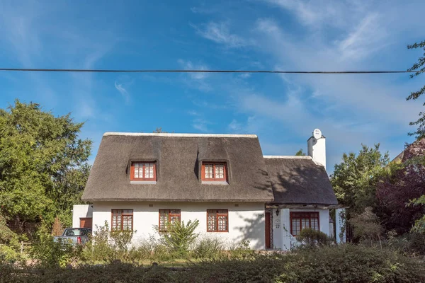
<path fill-rule="evenodd" d="M 166 231 L 158 231 L 158 227 L 156 229 L 164 244 L 171 248 L 172 252 L 185 256 L 198 237 L 198 233 L 195 233 L 198 225 L 199 221 L 196 219 L 195 221 L 189 220 L 187 224 L 184 221 L 169 223 L 166 226 Z"/>

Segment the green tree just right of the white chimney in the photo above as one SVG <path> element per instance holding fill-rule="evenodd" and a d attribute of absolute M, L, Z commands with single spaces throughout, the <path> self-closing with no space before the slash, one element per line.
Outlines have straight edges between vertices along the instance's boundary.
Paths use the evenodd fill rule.
<path fill-rule="evenodd" d="M 378 175 L 387 166 L 389 156 L 382 154 L 379 144 L 362 144 L 358 154 L 343 154 L 342 162 L 334 167 L 331 184 L 340 204 L 350 207 L 349 212 L 362 213 L 365 207 L 375 207 L 375 185 Z"/>

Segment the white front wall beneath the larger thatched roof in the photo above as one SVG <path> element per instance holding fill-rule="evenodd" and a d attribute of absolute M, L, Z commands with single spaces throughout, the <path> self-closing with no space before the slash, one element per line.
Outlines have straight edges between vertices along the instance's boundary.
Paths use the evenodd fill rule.
<path fill-rule="evenodd" d="M 149 207 L 152 204 L 153 207 Z M 105 221 L 111 227 L 111 209 L 133 209 L 133 243 L 141 238 L 156 236 L 153 226 L 158 225 L 159 209 L 181 209 L 181 221 L 199 220 L 196 230 L 200 236 L 217 236 L 228 245 L 242 240 L 250 241 L 251 248 L 265 248 L 265 224 L 263 202 L 95 202 L 93 204 L 93 229 L 103 226 Z M 229 210 L 229 232 L 207 233 L 207 209 Z"/>

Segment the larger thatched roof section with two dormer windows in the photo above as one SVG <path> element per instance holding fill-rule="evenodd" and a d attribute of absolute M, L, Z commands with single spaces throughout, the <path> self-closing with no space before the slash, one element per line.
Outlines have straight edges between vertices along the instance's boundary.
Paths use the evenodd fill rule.
<path fill-rule="evenodd" d="M 156 184 L 130 183 L 131 161 L 157 161 Z M 228 185 L 200 180 L 200 162 L 225 161 Z M 271 202 L 256 135 L 106 133 L 83 201 Z"/>

